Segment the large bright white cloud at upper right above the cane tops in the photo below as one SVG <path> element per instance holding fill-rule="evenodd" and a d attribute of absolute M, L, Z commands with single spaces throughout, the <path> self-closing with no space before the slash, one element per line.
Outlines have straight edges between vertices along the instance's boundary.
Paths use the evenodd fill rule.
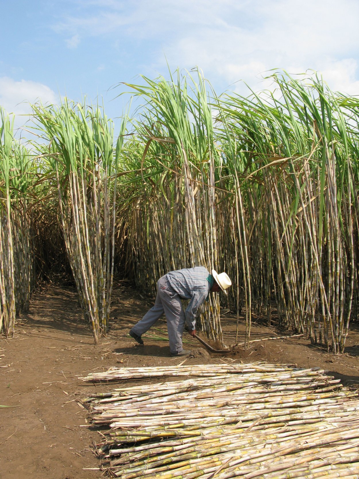
<path fill-rule="evenodd" d="M 232 2 L 231 10 L 222 24 L 208 26 L 204 17 L 196 29 L 173 39 L 165 49 L 169 63 L 199 65 L 210 80 L 245 80 L 254 88 L 262 88 L 258 76 L 271 68 L 312 68 L 327 75 L 333 89 L 359 93 L 359 2 L 259 0 Z"/>

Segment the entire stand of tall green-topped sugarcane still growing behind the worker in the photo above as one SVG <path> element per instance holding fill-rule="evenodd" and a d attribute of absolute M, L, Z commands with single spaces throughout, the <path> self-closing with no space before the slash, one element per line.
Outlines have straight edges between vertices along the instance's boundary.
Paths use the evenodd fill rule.
<path fill-rule="evenodd" d="M 343 352 L 359 310 L 356 98 L 274 74 L 275 101 L 209 99 L 197 73 L 128 85 L 145 104 L 117 141 L 101 108 L 64 99 L 34 105 L 44 143 L 26 150 L 1 109 L 0 331 L 51 267 L 68 265 L 98 342 L 113 274 L 154 295 L 163 274 L 203 265 L 232 278 L 232 343 L 243 313 L 248 345 L 256 314 Z M 222 341 L 218 297 L 198 326 Z"/>

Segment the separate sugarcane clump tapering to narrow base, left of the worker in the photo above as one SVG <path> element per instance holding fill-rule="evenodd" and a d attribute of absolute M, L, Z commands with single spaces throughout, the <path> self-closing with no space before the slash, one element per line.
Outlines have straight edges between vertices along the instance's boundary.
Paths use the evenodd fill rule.
<path fill-rule="evenodd" d="M 49 142 L 67 257 L 97 344 L 109 326 L 125 120 L 113 148 L 113 125 L 98 106 L 65 100 L 60 107 L 34 105 L 34 114 Z"/>

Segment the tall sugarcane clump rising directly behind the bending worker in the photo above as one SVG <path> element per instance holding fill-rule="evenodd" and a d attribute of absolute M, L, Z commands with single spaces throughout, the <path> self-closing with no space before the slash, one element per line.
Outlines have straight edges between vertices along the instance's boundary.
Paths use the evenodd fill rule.
<path fill-rule="evenodd" d="M 218 268 L 214 185 L 218 151 L 201 76 L 192 95 L 186 80 L 181 84 L 179 72 L 170 82 L 144 80 L 145 87 L 129 85 L 147 101 L 143 118 L 135 125 L 144 145 L 137 166 L 143 183 L 133 184 L 136 230 L 130 241 L 133 254 L 141 258 L 136 260 L 137 284 L 153 291 L 158 277 L 173 269 Z M 144 184 L 144 190 L 135 193 Z M 147 265 L 148 255 L 154 261 Z M 210 298 L 201 307 L 199 322 L 208 337 L 222 341 L 218 299 Z"/>

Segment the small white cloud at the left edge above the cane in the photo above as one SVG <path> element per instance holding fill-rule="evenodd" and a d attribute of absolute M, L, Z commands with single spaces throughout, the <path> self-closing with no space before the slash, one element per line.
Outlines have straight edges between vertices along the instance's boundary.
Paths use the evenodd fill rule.
<path fill-rule="evenodd" d="M 34 103 L 37 100 L 41 100 L 42 103 L 57 103 L 58 95 L 42 83 L 0 77 L 0 105 L 9 114 L 29 114 L 31 107 L 28 103 Z"/>

